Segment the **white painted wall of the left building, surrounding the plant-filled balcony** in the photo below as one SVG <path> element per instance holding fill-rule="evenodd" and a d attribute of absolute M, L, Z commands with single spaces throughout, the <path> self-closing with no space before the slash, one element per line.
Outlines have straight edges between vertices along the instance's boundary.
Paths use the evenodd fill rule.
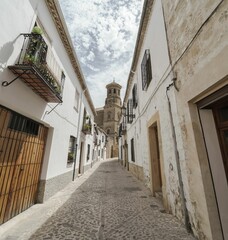
<path fill-rule="evenodd" d="M 41 173 L 41 179 L 49 179 L 72 170 L 73 165 L 67 167 L 70 135 L 77 137 L 78 131 L 79 133 L 81 132 L 84 107 L 87 109 L 92 121 L 94 119 L 93 112 L 83 95 L 81 98 L 83 102 L 80 114 L 81 120 L 78 129 L 79 112 L 74 109 L 74 98 L 75 89 L 81 93 L 82 88 L 71 66 L 45 1 L 23 0 L 19 2 L 17 0 L 3 0 L 0 2 L 0 9 L 2 27 L 0 33 L 0 81 L 11 81 L 15 77 L 7 69 L 7 66 L 13 65 L 20 53 L 23 40 L 20 33 L 31 32 L 37 17 L 50 38 L 53 54 L 56 56 L 56 61 L 66 76 L 63 103 L 56 107 L 50 114 L 47 114 L 47 112 L 56 104 L 46 103 L 21 80 L 17 80 L 6 88 L 0 86 L 0 104 L 49 127 L 50 130 Z M 86 136 L 86 145 L 87 142 L 91 144 L 92 152 L 92 136 Z M 78 167 L 79 163 L 80 147 L 78 150 L 76 167 Z"/>

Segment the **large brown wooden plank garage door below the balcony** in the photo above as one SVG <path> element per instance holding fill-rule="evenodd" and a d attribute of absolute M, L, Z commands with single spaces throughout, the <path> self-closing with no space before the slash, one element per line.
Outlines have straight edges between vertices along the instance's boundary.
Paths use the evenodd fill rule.
<path fill-rule="evenodd" d="M 47 128 L 0 106 L 0 224 L 31 207 Z"/>

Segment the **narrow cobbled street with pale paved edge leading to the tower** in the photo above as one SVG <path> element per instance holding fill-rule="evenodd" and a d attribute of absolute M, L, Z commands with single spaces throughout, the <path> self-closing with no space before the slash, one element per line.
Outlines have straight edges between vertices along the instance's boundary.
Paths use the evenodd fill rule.
<path fill-rule="evenodd" d="M 61 206 L 55 211 L 54 205 Z M 97 163 L 61 194 L 4 224 L 0 236 L 8 240 L 194 239 L 117 160 Z"/>

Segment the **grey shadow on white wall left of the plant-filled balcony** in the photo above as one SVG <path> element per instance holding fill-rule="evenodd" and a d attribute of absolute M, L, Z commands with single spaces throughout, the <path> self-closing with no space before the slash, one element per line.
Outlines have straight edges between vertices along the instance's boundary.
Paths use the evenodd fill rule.
<path fill-rule="evenodd" d="M 7 67 L 7 62 L 11 57 L 14 50 L 14 43 L 20 37 L 17 36 L 12 42 L 5 43 L 2 47 L 0 47 L 0 71 L 3 72 Z"/>

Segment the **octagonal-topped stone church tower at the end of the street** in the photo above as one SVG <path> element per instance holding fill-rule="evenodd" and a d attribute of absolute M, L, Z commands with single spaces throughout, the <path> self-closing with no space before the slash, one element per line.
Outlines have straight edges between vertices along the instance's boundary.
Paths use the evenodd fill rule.
<path fill-rule="evenodd" d="M 107 97 L 103 108 L 97 108 L 95 122 L 108 136 L 107 158 L 118 157 L 118 122 L 121 115 L 121 86 L 113 81 L 106 85 Z"/>

